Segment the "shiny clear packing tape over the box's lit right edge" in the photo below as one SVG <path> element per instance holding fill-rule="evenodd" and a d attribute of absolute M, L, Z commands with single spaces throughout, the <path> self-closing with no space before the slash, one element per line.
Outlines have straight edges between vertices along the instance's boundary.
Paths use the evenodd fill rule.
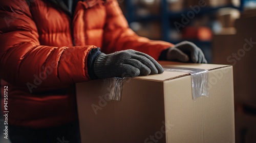
<path fill-rule="evenodd" d="M 191 75 L 193 100 L 201 96 L 209 95 L 209 91 L 207 88 L 209 71 L 207 69 L 174 67 L 174 66 L 164 66 L 163 69 L 164 71 L 183 72 L 183 73 L 189 73 Z"/>

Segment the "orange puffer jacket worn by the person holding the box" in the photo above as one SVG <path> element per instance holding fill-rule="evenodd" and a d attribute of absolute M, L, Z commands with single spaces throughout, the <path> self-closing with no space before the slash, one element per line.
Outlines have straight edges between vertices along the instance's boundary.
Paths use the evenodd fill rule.
<path fill-rule="evenodd" d="M 77 120 L 74 85 L 90 80 L 92 49 L 105 54 L 133 49 L 158 59 L 173 46 L 137 36 L 116 1 L 93 7 L 79 1 L 73 17 L 48 1 L 28 2 L 0 0 L 2 105 L 8 86 L 6 110 L 14 126 L 45 128 Z"/>

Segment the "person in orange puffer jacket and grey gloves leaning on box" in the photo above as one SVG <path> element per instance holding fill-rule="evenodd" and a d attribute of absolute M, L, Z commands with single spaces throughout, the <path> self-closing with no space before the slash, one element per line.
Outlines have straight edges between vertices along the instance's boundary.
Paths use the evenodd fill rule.
<path fill-rule="evenodd" d="M 116 0 L 1 0 L 0 15 L 13 143 L 80 142 L 75 83 L 161 74 L 156 60 L 207 62 L 191 42 L 136 35 Z"/>

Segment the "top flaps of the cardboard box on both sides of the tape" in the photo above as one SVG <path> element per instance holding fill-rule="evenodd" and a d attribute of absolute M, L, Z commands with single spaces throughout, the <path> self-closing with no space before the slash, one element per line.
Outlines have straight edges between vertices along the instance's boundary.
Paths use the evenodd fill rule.
<path fill-rule="evenodd" d="M 200 68 L 200 69 L 208 69 L 208 70 L 214 70 L 218 68 L 223 68 L 231 65 L 223 65 L 223 64 L 195 64 L 195 63 L 180 63 L 180 62 L 169 62 L 169 61 L 159 61 L 159 63 L 163 67 L 188 67 L 188 68 Z M 164 71 L 163 74 L 157 74 L 157 75 L 149 75 L 149 76 L 139 76 L 134 77 L 136 79 L 142 79 L 142 80 L 153 80 L 153 81 L 165 81 L 165 80 L 172 80 L 177 79 L 179 77 L 184 77 L 190 75 L 189 73 L 181 73 L 176 71 Z"/>

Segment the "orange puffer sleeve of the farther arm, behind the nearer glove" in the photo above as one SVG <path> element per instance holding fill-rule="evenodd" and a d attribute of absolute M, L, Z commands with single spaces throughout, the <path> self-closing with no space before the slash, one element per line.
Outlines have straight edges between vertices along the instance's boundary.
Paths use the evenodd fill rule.
<path fill-rule="evenodd" d="M 173 46 L 168 42 L 140 37 L 133 32 L 116 0 L 109 0 L 106 3 L 106 25 L 103 36 L 101 51 L 106 54 L 133 49 L 146 53 L 157 60 L 163 50 Z"/>

